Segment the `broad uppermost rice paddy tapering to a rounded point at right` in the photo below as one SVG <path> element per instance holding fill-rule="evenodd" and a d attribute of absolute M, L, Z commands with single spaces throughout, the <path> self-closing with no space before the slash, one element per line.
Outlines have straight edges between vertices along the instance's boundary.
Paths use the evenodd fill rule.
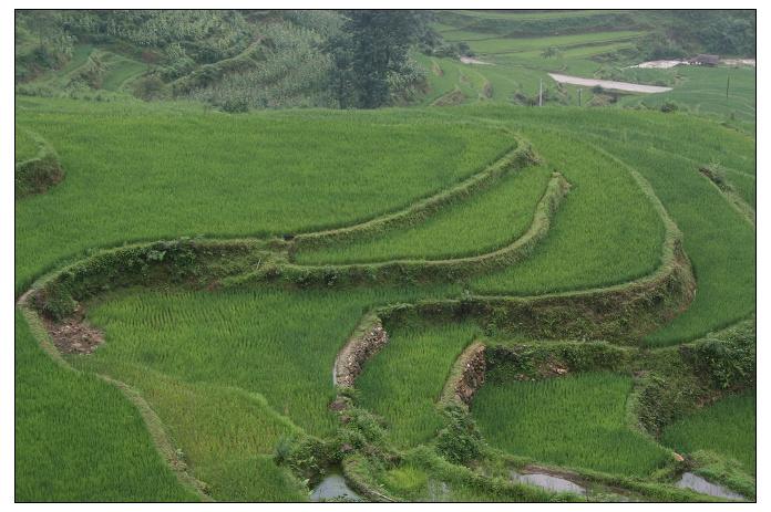
<path fill-rule="evenodd" d="M 79 104 L 68 101 L 24 98 L 18 105 L 20 123 L 52 140 L 72 178 L 51 196 L 32 197 L 17 210 L 17 250 L 27 254 L 17 269 L 19 290 L 39 269 L 51 269 L 85 249 L 351 223 L 446 188 L 513 144 L 502 129 L 440 126 L 421 113 L 390 119 L 319 113 L 313 123 L 312 114 L 226 118 L 169 107 L 160 116 L 142 104 L 91 104 L 84 117 Z M 59 107 L 40 112 L 38 105 Z M 124 115 L 116 116 L 116 108 Z M 94 122 L 102 126 L 99 145 Z M 366 128 L 372 124 L 384 129 Z M 424 150 L 409 150 L 417 137 L 424 138 Z M 282 149 L 287 144 L 305 149 L 292 157 Z M 136 154 L 137 146 L 146 149 L 144 156 Z M 309 153 L 315 157 L 306 158 Z M 158 158 L 161 154 L 165 157 Z M 384 157 L 370 158 L 376 154 Z M 245 167 L 244 161 L 254 164 Z M 228 179 L 220 179 L 225 175 Z M 94 195 L 94 189 L 103 192 Z M 345 200 L 351 196 L 361 200 Z"/>

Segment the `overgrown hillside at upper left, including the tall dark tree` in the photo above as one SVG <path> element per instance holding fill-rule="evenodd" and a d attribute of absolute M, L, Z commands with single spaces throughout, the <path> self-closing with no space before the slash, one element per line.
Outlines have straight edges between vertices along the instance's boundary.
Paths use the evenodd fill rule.
<path fill-rule="evenodd" d="M 421 94 L 423 73 L 408 50 L 436 43 L 428 18 L 388 10 L 19 11 L 16 79 L 23 94 L 93 98 L 104 96 L 91 91 L 131 81 L 127 91 L 143 100 L 187 97 L 230 113 L 372 108 Z M 85 48 L 99 50 L 83 55 Z"/>

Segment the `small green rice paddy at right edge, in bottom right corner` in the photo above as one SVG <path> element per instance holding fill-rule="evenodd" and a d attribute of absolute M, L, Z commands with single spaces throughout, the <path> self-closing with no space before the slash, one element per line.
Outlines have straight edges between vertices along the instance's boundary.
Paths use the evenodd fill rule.
<path fill-rule="evenodd" d="M 755 474 L 755 394 L 731 395 L 668 426 L 661 442 L 680 453 L 709 450 Z"/>

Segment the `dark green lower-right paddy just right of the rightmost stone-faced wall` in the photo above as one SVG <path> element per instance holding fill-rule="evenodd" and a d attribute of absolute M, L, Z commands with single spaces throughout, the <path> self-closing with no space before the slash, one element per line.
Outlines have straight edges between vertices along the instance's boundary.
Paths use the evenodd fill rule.
<path fill-rule="evenodd" d="M 472 412 L 486 440 L 510 453 L 567 467 L 642 477 L 670 456 L 628 429 L 631 378 L 580 374 L 489 383 Z"/>

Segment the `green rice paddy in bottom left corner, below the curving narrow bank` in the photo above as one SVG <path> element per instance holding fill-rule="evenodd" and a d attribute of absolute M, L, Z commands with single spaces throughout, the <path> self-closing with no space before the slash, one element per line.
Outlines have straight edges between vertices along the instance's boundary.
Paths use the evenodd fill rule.
<path fill-rule="evenodd" d="M 134 405 L 110 384 L 52 361 L 20 312 L 14 359 L 21 369 L 16 376 L 18 498 L 197 501 L 176 482 Z M 53 421 L 50 410 L 56 411 Z"/>

